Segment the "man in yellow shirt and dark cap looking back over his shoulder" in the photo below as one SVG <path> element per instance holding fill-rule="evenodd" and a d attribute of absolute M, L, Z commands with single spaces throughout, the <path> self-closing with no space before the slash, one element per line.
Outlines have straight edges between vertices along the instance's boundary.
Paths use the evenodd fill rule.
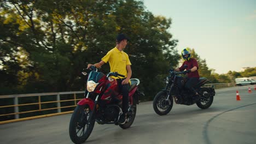
<path fill-rule="evenodd" d="M 127 53 L 123 50 L 127 45 L 129 40 L 125 34 L 118 34 L 116 43 L 117 45 L 110 51 L 107 55 L 101 59 L 95 65 L 96 68 L 100 68 L 103 64 L 109 62 L 110 72 L 118 72 L 121 75 L 125 75 L 124 79 L 119 79 L 118 77 L 113 77 L 117 80 L 120 91 L 123 93 L 123 115 L 119 118 L 119 123 L 124 124 L 126 122 L 126 113 L 129 106 L 129 88 L 130 88 L 130 78 L 132 75 L 131 62 Z M 88 68 L 92 64 L 88 64 Z"/>

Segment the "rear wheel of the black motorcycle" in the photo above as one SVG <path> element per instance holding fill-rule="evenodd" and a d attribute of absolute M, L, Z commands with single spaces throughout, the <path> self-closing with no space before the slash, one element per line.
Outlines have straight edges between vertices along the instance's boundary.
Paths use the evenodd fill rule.
<path fill-rule="evenodd" d="M 208 109 L 213 102 L 213 95 L 211 95 L 211 89 L 203 87 L 200 89 L 201 99 L 197 101 L 196 105 L 200 109 Z"/>

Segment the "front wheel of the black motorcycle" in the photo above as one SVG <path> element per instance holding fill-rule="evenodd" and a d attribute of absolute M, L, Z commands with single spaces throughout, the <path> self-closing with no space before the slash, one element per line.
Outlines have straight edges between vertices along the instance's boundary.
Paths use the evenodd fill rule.
<path fill-rule="evenodd" d="M 172 97 L 169 97 L 167 99 L 167 93 L 164 91 L 159 92 L 158 94 L 155 95 L 154 101 L 153 101 L 153 108 L 154 111 L 162 116 L 162 115 L 167 115 L 172 109 L 173 106 L 173 99 Z"/>

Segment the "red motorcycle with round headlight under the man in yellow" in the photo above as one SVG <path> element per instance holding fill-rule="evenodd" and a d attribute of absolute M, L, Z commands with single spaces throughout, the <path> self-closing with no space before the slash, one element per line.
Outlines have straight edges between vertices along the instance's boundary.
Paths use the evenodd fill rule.
<path fill-rule="evenodd" d="M 107 76 L 90 67 L 87 80 L 86 98 L 80 100 L 75 107 L 69 123 L 69 136 L 74 143 L 83 143 L 90 136 L 95 121 L 98 124 L 115 124 L 123 129 L 129 128 L 136 116 L 136 104 L 139 103 L 139 80 L 131 79 L 129 90 L 129 109 L 126 113 L 127 121 L 124 124 L 118 122 L 123 111 L 122 94 L 119 92 L 118 83 L 110 76 L 124 77 L 117 72 L 108 73 Z M 83 72 L 86 75 L 85 72 Z M 119 78 L 121 78 L 119 77 Z"/>

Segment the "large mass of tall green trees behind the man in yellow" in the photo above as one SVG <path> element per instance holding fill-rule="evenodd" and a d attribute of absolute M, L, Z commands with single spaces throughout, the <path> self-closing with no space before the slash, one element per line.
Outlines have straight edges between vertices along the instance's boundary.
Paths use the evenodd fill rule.
<path fill-rule="evenodd" d="M 142 99 L 152 99 L 170 63 L 178 63 L 171 19 L 154 16 L 141 1 L 10 0 L 1 1 L 0 13 L 1 95 L 83 90 L 82 69 L 100 61 L 121 32 L 131 38 L 125 51 Z"/>

